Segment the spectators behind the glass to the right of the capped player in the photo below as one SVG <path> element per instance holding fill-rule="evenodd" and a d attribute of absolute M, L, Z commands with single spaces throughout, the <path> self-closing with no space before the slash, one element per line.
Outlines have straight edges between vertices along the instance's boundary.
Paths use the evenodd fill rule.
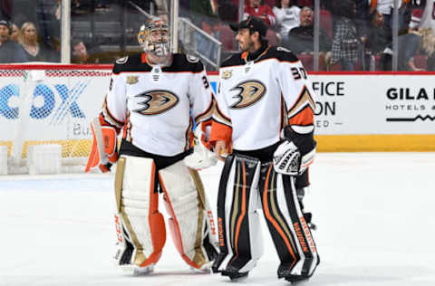
<path fill-rule="evenodd" d="M 398 70 L 435 70 L 432 23 L 421 23 L 424 14 L 431 12 L 430 3 L 424 0 L 398 0 L 396 4 L 393 0 L 322 1 L 319 70 L 391 71 L 394 5 L 399 15 Z M 314 0 L 245 0 L 245 5 L 245 17 L 262 18 L 275 33 L 275 42 L 295 52 L 309 70 L 313 69 Z"/>

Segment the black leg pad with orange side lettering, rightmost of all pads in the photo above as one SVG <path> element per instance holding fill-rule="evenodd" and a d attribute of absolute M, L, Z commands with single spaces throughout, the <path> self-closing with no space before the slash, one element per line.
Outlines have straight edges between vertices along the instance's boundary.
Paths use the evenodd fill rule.
<path fill-rule="evenodd" d="M 265 164 L 262 173 L 263 210 L 281 261 L 278 277 L 308 278 L 319 261 L 313 236 L 298 202 L 295 176 L 276 173 L 272 163 Z"/>

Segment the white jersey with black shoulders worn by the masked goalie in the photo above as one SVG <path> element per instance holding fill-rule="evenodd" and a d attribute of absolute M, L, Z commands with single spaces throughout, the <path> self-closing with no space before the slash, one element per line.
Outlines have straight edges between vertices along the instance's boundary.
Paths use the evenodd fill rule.
<path fill-rule="evenodd" d="M 122 129 L 122 138 L 137 148 L 175 156 L 192 147 L 191 116 L 197 124 L 211 119 L 213 96 L 197 58 L 174 54 L 160 69 L 141 53 L 115 63 L 100 121 Z"/>

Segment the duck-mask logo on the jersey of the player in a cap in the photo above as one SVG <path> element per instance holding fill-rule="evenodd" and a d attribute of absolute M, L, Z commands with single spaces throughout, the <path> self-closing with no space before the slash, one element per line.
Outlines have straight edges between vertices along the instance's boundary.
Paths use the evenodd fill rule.
<path fill-rule="evenodd" d="M 243 81 L 231 89 L 231 91 L 239 91 L 234 98 L 238 98 L 238 101 L 231 105 L 232 109 L 246 108 L 256 101 L 261 100 L 266 93 L 265 85 L 260 81 Z"/>

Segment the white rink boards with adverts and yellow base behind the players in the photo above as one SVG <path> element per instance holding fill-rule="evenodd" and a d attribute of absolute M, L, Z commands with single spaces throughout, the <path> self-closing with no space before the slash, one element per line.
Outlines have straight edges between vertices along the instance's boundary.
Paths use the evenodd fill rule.
<path fill-rule="evenodd" d="M 87 157 L 89 121 L 101 109 L 111 66 L 51 65 L 32 82 L 15 72 L 35 67 L 0 76 L 0 145 L 10 152 L 18 135 L 24 157 L 27 145 L 53 141 L 63 145 L 63 157 Z M 218 73 L 208 74 L 216 91 Z M 318 151 L 435 151 L 434 75 L 312 72 Z M 31 104 L 23 104 L 25 95 Z"/>

